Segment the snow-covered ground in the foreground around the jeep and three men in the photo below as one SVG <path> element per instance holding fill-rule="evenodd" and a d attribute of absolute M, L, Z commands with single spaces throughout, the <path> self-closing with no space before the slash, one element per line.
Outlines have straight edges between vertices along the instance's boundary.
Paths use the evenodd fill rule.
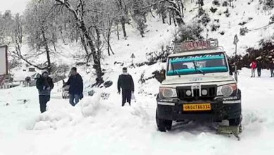
<path fill-rule="evenodd" d="M 216 135 L 211 123 L 178 123 L 158 132 L 153 95 L 136 94 L 132 106 L 121 107 L 115 92 L 106 100 L 97 92 L 72 107 L 54 89 L 48 111 L 40 114 L 35 87 L 0 90 L 0 154 L 273 154 L 274 78 L 269 70 L 249 75 L 240 71 L 240 141 Z"/>

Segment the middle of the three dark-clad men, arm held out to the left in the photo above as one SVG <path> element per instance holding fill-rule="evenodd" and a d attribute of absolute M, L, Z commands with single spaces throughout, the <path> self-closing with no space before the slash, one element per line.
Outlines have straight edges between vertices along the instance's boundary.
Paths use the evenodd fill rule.
<path fill-rule="evenodd" d="M 76 67 L 72 68 L 69 80 L 65 82 L 64 86 L 65 85 L 70 85 L 70 104 L 75 106 L 79 102 L 79 99 L 83 98 L 83 79 L 81 78 L 81 75 L 77 73 Z"/>

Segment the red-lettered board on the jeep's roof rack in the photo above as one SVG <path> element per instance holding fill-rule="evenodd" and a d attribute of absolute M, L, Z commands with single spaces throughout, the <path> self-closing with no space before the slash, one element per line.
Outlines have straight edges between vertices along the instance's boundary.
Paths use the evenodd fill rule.
<path fill-rule="evenodd" d="M 218 47 L 217 39 L 204 39 L 193 42 L 182 42 L 180 44 L 175 44 L 175 51 L 195 51 L 202 49 L 214 49 Z"/>

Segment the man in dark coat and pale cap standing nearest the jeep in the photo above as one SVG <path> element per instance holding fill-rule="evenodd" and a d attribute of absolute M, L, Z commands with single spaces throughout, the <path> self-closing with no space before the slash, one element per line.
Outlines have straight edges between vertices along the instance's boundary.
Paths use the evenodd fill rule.
<path fill-rule="evenodd" d="M 122 75 L 119 75 L 119 79 L 118 79 L 118 85 L 117 85 L 118 93 L 121 94 L 121 88 L 122 88 L 122 106 L 124 106 L 126 102 L 128 102 L 130 106 L 131 93 L 134 92 L 134 82 L 131 75 L 127 73 L 127 68 L 123 68 L 122 71 L 123 73 Z"/>

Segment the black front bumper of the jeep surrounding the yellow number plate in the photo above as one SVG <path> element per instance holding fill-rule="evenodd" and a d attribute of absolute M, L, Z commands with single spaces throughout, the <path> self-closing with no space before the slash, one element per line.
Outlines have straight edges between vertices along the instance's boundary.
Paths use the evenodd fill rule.
<path fill-rule="evenodd" d="M 210 111 L 183 111 L 184 104 L 210 103 Z M 216 98 L 214 101 L 183 101 L 157 99 L 157 117 L 164 120 L 228 120 L 240 118 L 242 104 L 240 95 Z"/>

